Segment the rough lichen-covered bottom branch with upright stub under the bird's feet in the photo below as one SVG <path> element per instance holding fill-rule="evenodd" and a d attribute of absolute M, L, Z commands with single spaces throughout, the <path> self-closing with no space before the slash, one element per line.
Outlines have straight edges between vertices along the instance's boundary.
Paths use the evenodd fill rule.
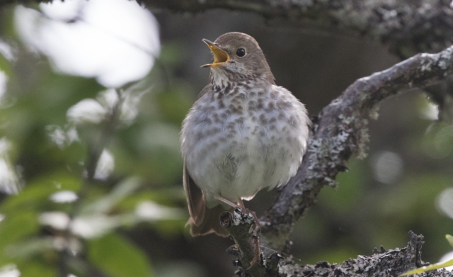
<path fill-rule="evenodd" d="M 283 258 L 278 253 L 270 256 L 260 253 L 260 259 L 250 266 L 259 249 L 258 240 L 253 235 L 255 224 L 253 215 L 244 214 L 241 209 L 236 209 L 232 214 L 225 212 L 221 215 L 222 227 L 230 232 L 236 242 L 236 246 L 230 247 L 228 252 L 237 257 L 237 261 L 234 261 L 234 264 L 239 266 L 236 275 L 241 277 L 398 276 L 428 265 L 421 259 L 423 236 L 410 231 L 411 240 L 405 248 L 385 251 L 384 247 L 381 247 L 381 251 L 374 249 L 372 256 L 357 256 L 357 259 L 348 259 L 342 264 L 331 265 L 327 261 L 319 261 L 316 265 L 302 266 L 294 264 L 292 256 Z M 428 271 L 420 276 L 447 277 L 451 276 L 451 272 Z"/>

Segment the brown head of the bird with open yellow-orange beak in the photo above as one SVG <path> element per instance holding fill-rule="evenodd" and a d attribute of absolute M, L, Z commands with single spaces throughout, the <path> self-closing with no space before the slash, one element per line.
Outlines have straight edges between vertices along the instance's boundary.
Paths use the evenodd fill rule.
<path fill-rule="evenodd" d="M 274 76 L 263 50 L 250 35 L 231 32 L 219 36 L 214 43 L 206 39 L 203 41 L 214 55 L 212 64 L 202 65 L 211 68 L 211 81 L 262 79 L 274 84 Z"/>

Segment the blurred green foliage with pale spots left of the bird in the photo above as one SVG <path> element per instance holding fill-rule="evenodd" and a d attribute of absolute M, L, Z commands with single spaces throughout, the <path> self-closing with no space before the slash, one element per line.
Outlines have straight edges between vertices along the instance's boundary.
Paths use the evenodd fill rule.
<path fill-rule="evenodd" d="M 184 201 L 178 132 L 190 98 L 158 67 L 122 89 L 59 74 L 21 45 L 12 19 L 0 40 L 14 52 L 0 55 L 0 276 L 151 276 L 127 230 L 183 230 L 186 212 L 169 207 Z"/>

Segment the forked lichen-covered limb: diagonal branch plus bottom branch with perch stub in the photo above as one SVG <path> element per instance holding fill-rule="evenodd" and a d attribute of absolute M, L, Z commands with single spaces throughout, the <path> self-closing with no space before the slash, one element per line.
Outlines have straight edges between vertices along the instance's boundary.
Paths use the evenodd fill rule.
<path fill-rule="evenodd" d="M 377 105 L 382 100 L 403 89 L 414 86 L 423 88 L 436 84 L 452 73 L 453 46 L 437 54 L 415 55 L 382 72 L 358 79 L 343 94 L 323 108 L 323 111 L 314 118 L 309 149 L 299 171 L 282 188 L 274 205 L 260 219 L 260 239 L 264 244 L 277 251 L 287 251 L 294 222 L 301 217 L 306 208 L 314 204 L 321 188 L 326 185 L 336 186 L 334 181 L 336 174 L 347 169 L 345 163 L 352 154 L 365 157 L 368 142 L 367 118 L 377 117 Z M 250 258 L 242 259 L 250 257 L 256 251 L 256 248 L 253 248 L 255 238 L 250 231 L 253 230 L 251 228 L 254 224 L 253 217 L 241 215 L 241 211 L 236 210 L 231 218 L 236 220 L 229 221 L 235 222 L 239 227 L 231 228 L 229 224 L 222 226 L 229 227 L 229 232 L 239 246 L 239 264 L 248 265 Z M 355 273 L 358 274 L 357 276 L 369 276 L 368 274 L 372 273 L 374 276 L 379 276 L 384 274 L 384 271 L 380 273 L 374 271 L 390 268 L 393 271 L 390 270 L 387 273 L 396 276 L 416 266 L 423 266 L 420 248 L 421 238 L 419 237 L 418 242 L 413 242 L 412 238 L 407 250 L 404 250 L 410 251 L 411 255 L 401 249 L 378 256 L 359 256 L 355 260 L 345 261 L 340 266 L 320 262 L 316 266 L 302 267 L 294 265 L 290 258 L 277 262 L 276 266 L 278 256 L 262 256 L 259 265 L 248 269 L 243 268 L 241 272 L 247 272 L 251 276 L 306 276 L 306 274 L 327 276 L 327 271 L 334 271 L 334 275 Z M 395 267 L 396 264 L 391 263 L 397 257 L 400 257 L 398 259 L 401 264 Z M 413 257 L 415 260 L 412 261 L 408 257 Z M 267 267 L 268 265 L 270 268 Z M 447 273 L 435 271 L 425 276 L 447 276 Z"/>

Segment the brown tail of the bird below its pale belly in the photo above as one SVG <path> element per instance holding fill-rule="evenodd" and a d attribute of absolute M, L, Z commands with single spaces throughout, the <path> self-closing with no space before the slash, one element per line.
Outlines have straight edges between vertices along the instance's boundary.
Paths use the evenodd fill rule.
<path fill-rule="evenodd" d="M 232 210 L 232 208 L 231 208 Z M 192 217 L 189 218 L 187 225 L 190 225 L 190 234 L 195 236 L 202 236 L 204 234 L 211 234 L 215 233 L 222 237 L 228 237 L 229 232 L 224 230 L 220 226 L 220 214 L 225 211 L 225 208 L 222 205 L 217 205 L 214 208 L 205 210 L 205 216 L 203 217 L 202 222 L 199 225 L 195 225 L 193 222 Z"/>

